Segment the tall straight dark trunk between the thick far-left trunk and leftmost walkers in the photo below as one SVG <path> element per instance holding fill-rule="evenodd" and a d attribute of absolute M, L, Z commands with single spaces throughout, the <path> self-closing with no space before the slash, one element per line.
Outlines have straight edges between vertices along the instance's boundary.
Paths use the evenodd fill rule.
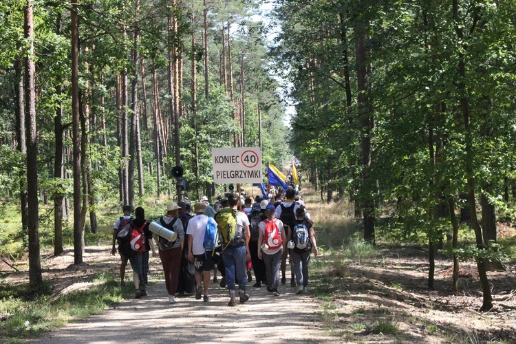
<path fill-rule="evenodd" d="M 72 34 L 72 146 L 74 149 L 74 264 L 83 264 L 83 224 L 80 223 L 80 106 L 79 106 L 79 23 L 76 8 L 71 1 Z"/>

